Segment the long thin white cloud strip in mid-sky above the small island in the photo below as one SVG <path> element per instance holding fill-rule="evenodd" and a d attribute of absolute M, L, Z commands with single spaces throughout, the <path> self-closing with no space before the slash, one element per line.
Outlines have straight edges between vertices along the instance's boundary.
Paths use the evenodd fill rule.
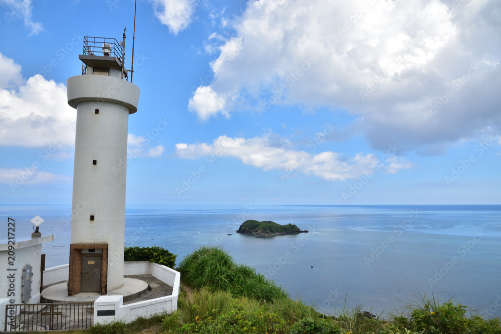
<path fill-rule="evenodd" d="M 356 178 L 372 172 L 375 168 L 396 172 L 398 169 L 409 168 L 411 165 L 398 162 L 396 158 L 389 160 L 390 164 L 381 162 L 374 154 L 356 154 L 346 158 L 340 153 L 326 151 L 310 154 L 287 148 L 288 140 L 277 144 L 276 135 L 269 133 L 254 138 L 230 138 L 225 135 L 214 139 L 212 144 L 178 143 L 174 154 L 183 159 L 194 159 L 201 156 L 233 156 L 243 163 L 262 168 L 263 170 L 278 170 L 281 178 L 287 178 L 295 172 L 305 175 L 315 175 L 330 181 Z"/>

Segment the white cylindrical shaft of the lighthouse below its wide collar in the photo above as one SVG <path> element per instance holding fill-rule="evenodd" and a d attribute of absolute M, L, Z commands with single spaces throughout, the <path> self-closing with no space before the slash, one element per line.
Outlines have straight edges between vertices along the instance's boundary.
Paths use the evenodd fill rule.
<path fill-rule="evenodd" d="M 108 290 L 123 285 L 128 119 L 115 103 L 77 107 L 71 242 L 108 243 Z"/>

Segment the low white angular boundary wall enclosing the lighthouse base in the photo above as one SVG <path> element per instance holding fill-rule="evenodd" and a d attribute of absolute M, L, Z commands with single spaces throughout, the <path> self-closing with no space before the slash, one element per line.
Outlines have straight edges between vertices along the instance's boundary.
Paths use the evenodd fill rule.
<path fill-rule="evenodd" d="M 165 265 L 148 261 L 125 261 L 125 275 L 152 275 L 172 286 L 172 294 L 164 297 L 123 305 L 122 296 L 102 295 L 94 302 L 94 324 L 121 320 L 134 321 L 138 316 L 150 317 L 160 313 L 172 313 L 177 309 L 181 273 Z M 68 264 L 45 269 L 44 285 L 68 279 Z M 98 315 L 100 313 L 106 315 Z M 109 315 L 114 313 L 114 315 Z"/>

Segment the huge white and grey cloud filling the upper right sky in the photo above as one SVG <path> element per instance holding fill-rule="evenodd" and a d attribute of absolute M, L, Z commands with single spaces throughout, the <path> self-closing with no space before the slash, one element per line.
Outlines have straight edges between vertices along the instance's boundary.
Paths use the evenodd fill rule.
<path fill-rule="evenodd" d="M 283 87 L 274 103 L 347 110 L 373 147 L 436 151 L 501 123 L 500 10 L 496 0 L 251 1 L 189 107 L 201 119 L 262 109 Z"/>

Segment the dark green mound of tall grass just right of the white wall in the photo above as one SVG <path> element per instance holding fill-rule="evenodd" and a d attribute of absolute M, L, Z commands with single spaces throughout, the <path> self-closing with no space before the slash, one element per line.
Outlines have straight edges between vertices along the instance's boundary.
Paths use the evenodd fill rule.
<path fill-rule="evenodd" d="M 177 268 L 192 288 L 225 290 L 232 295 L 273 301 L 287 297 L 285 290 L 256 269 L 236 264 L 222 247 L 201 246 L 186 255 Z"/>

